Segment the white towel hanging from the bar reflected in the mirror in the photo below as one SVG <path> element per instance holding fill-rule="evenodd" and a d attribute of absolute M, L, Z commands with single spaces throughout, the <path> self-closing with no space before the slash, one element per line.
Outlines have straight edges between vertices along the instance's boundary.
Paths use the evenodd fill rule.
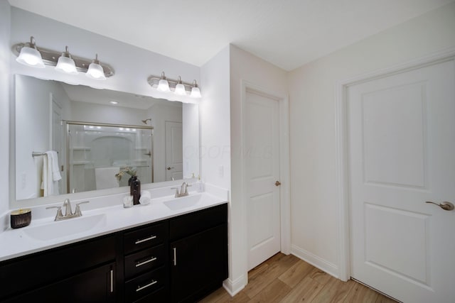
<path fill-rule="evenodd" d="M 58 180 L 61 179 L 57 152 L 49 150 L 45 152 L 43 158 L 43 181 L 41 182 L 41 189 L 44 189 L 43 196 L 48 197 L 59 194 Z"/>

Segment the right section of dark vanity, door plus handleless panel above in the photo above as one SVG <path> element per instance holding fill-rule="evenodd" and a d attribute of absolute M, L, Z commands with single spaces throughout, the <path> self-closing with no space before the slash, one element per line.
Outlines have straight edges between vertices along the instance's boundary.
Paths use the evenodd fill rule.
<path fill-rule="evenodd" d="M 170 220 L 172 302 L 196 302 L 228 278 L 227 211 L 223 204 Z"/>

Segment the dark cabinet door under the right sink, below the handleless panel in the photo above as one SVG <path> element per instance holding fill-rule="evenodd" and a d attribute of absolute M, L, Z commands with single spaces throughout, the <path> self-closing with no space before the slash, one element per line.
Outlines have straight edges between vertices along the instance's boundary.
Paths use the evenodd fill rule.
<path fill-rule="evenodd" d="M 193 302 L 228 277 L 228 231 L 223 224 L 171 243 L 172 302 Z"/>

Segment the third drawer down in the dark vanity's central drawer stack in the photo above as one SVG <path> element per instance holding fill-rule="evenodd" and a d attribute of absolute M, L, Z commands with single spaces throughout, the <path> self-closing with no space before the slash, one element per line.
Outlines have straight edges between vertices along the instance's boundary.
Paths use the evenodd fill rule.
<path fill-rule="evenodd" d="M 133 302 L 167 285 L 165 267 L 158 268 L 125 283 L 125 297 Z"/>

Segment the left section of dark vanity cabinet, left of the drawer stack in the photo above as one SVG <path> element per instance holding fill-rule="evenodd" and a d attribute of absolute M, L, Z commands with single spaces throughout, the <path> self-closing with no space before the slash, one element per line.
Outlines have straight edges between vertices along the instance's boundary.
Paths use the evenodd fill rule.
<path fill-rule="evenodd" d="M 115 237 L 0 263 L 0 302 L 115 302 Z"/>

